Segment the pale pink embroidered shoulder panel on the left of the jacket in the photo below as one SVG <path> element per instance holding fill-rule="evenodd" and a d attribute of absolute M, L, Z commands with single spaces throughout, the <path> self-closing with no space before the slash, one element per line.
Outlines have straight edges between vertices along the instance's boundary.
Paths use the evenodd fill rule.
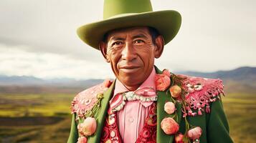
<path fill-rule="evenodd" d="M 105 92 L 112 82 L 106 79 L 103 83 L 85 89 L 77 94 L 72 100 L 71 112 L 76 113 L 77 117 L 84 117 L 88 111 L 93 109 L 95 104 L 103 98 L 103 92 Z"/>

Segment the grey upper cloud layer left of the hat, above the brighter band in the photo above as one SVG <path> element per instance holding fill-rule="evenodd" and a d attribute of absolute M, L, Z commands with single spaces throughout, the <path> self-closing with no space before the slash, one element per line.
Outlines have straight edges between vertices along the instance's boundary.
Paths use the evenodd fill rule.
<path fill-rule="evenodd" d="M 69 54 L 73 58 L 93 59 L 98 51 L 76 35 L 82 24 L 98 19 L 89 10 L 98 2 L 88 1 L 0 1 L 0 41 L 25 44 L 26 51 Z M 99 6 L 99 9 L 102 6 Z M 101 13 L 98 13 L 99 15 Z M 100 60 L 98 60 L 100 61 Z"/>

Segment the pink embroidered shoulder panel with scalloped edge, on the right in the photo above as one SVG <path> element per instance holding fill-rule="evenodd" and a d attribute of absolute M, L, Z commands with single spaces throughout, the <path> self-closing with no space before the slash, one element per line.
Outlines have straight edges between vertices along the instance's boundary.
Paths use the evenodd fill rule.
<path fill-rule="evenodd" d="M 181 77 L 181 86 L 185 91 L 188 115 L 209 113 L 210 103 L 221 99 L 221 95 L 224 95 L 224 85 L 221 79 L 190 77 L 181 74 L 178 76 Z"/>

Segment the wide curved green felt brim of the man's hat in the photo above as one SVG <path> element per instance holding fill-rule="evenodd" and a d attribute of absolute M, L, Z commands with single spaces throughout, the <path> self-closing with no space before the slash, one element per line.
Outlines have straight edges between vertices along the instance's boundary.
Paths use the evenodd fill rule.
<path fill-rule="evenodd" d="M 77 35 L 86 44 L 99 49 L 98 44 L 108 31 L 132 26 L 151 26 L 158 30 L 164 43 L 168 44 L 179 31 L 181 15 L 172 10 L 125 14 L 80 26 Z"/>

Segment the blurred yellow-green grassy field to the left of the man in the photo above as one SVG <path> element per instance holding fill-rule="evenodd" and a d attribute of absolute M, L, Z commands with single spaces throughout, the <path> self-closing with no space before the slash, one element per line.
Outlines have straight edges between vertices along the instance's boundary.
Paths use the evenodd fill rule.
<path fill-rule="evenodd" d="M 0 94 L 0 142 L 66 142 L 73 94 Z"/>

